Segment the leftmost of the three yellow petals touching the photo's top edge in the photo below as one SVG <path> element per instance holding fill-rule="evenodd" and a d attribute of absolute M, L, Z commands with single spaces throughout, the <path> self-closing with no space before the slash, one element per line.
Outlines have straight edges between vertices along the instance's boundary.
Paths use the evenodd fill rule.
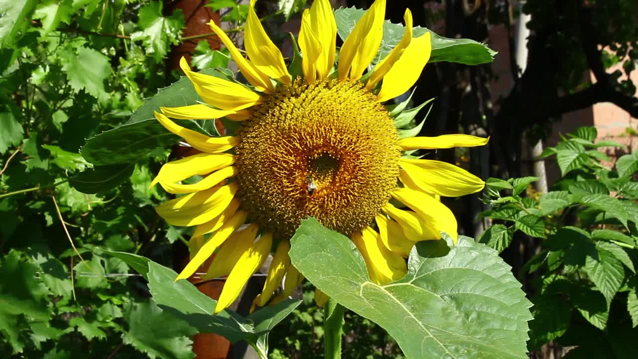
<path fill-rule="evenodd" d="M 248 58 L 260 72 L 283 84 L 290 85 L 290 73 L 288 73 L 286 63 L 283 61 L 281 51 L 263 30 L 262 22 L 255 13 L 255 1 L 250 1 L 246 31 L 244 31 L 244 45 L 246 45 Z"/>

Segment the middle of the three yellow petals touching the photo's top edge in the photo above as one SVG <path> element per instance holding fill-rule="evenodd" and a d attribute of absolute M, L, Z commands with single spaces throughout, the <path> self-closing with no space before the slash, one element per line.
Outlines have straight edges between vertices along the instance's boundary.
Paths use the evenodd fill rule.
<path fill-rule="evenodd" d="M 315 0 L 310 6 L 310 26 L 319 44 L 319 56 L 315 61 L 317 77 L 320 80 L 328 77 L 332 66 L 337 44 L 337 23 L 329 0 Z M 304 53 L 304 56 L 305 53 Z"/>

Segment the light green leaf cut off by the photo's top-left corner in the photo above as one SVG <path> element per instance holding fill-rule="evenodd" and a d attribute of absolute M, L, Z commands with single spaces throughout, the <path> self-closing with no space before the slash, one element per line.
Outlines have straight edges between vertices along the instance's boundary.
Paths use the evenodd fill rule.
<path fill-rule="evenodd" d="M 22 37 L 37 3 L 37 0 L 0 0 L 0 14 L 3 14 L 0 16 L 0 48 L 13 47 Z"/>

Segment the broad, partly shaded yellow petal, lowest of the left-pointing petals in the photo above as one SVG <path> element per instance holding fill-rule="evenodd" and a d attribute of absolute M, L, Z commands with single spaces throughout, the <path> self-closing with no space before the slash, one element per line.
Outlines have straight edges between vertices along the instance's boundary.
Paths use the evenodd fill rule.
<path fill-rule="evenodd" d="M 171 199 L 155 210 L 168 224 L 184 227 L 203 224 L 221 215 L 235 197 L 237 188 L 237 183 L 213 187 Z"/>

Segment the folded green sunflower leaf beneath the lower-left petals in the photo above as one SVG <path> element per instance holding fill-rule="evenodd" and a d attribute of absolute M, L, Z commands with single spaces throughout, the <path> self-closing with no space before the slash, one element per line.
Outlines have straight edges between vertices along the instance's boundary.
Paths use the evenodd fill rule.
<path fill-rule="evenodd" d="M 256 343 L 260 335 L 267 334 L 300 303 L 285 300 L 272 307 L 257 310 L 247 318 L 230 310 L 213 315 L 216 300 L 198 291 L 188 280 L 175 282 L 175 271 L 149 261 L 147 277 L 153 300 L 160 308 L 202 333 L 217 333 L 233 343 L 239 340 Z"/>

